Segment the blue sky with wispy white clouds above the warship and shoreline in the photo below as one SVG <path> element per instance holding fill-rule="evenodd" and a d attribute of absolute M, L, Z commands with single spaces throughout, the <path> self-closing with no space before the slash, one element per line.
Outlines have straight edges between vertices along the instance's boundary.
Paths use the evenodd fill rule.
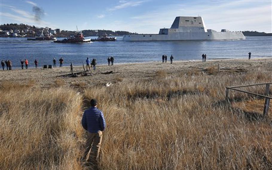
<path fill-rule="evenodd" d="M 202 16 L 207 29 L 272 32 L 271 0 L 0 0 L 0 24 L 158 34 L 176 16 Z"/>

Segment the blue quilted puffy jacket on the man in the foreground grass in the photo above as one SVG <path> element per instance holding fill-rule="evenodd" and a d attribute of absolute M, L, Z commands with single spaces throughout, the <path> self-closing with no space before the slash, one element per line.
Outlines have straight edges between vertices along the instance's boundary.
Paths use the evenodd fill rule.
<path fill-rule="evenodd" d="M 97 133 L 99 130 L 103 131 L 106 128 L 103 112 L 97 109 L 97 107 L 90 107 L 85 110 L 81 124 L 83 128 L 90 133 Z"/>

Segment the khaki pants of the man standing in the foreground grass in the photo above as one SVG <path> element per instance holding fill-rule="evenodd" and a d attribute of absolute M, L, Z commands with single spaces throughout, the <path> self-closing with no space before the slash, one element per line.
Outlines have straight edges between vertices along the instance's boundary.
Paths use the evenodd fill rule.
<path fill-rule="evenodd" d="M 87 162 L 97 164 L 101 141 L 102 141 L 102 131 L 98 131 L 98 133 L 88 132 L 87 142 L 85 145 L 85 153 L 84 153 L 84 158 L 86 158 Z"/>

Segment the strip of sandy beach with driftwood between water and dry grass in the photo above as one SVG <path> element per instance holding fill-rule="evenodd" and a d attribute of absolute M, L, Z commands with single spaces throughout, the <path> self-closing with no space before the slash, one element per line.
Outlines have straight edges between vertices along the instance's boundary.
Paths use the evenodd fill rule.
<path fill-rule="evenodd" d="M 49 87 L 56 82 L 65 86 L 94 86 L 105 85 L 107 83 L 118 83 L 119 81 L 142 81 L 152 79 L 157 72 L 165 72 L 169 77 L 180 76 L 184 74 L 201 73 L 208 74 L 207 69 L 218 70 L 220 72 L 246 73 L 254 72 L 256 69 L 272 71 L 272 58 L 254 58 L 247 59 L 224 59 L 224 60 L 207 60 L 201 61 L 173 61 L 173 64 L 161 62 L 148 63 L 126 63 L 114 64 L 114 66 L 98 65 L 96 70 L 91 70 L 88 76 L 70 77 L 62 76 L 70 74 L 70 67 L 54 69 L 14 69 L 10 71 L 0 71 L 0 81 L 18 81 L 24 83 L 34 80 L 37 86 Z M 202 68 L 202 69 L 201 69 Z M 85 67 L 86 69 L 86 67 Z M 75 66 L 74 72 L 82 72 L 82 66 Z M 112 71 L 112 74 L 103 73 Z M 65 83 L 64 83 L 65 82 Z"/>

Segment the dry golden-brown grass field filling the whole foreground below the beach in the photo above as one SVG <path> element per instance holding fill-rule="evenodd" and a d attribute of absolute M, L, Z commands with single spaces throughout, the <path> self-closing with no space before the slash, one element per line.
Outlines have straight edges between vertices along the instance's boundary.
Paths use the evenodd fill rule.
<path fill-rule="evenodd" d="M 109 87 L 1 81 L 1 169 L 91 169 L 80 162 L 91 98 L 107 123 L 100 169 L 272 169 L 272 109 L 263 119 L 264 99 L 230 92 L 234 101 L 224 100 L 225 86 L 271 82 L 271 69 L 207 70 L 117 75 Z"/>

